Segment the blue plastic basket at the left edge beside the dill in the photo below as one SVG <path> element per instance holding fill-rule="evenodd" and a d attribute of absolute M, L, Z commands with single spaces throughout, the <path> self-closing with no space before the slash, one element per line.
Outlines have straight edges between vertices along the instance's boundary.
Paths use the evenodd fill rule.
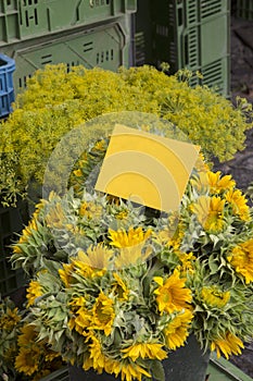
<path fill-rule="evenodd" d="M 12 111 L 14 71 L 15 61 L 4 54 L 0 54 L 0 118 L 8 115 Z"/>

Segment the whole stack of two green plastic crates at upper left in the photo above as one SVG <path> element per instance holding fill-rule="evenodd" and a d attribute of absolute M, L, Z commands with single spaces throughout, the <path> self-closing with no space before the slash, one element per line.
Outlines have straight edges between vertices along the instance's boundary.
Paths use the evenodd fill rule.
<path fill-rule="evenodd" d="M 0 50 L 15 60 L 15 93 L 47 63 L 129 66 L 136 1 L 0 0 Z"/>

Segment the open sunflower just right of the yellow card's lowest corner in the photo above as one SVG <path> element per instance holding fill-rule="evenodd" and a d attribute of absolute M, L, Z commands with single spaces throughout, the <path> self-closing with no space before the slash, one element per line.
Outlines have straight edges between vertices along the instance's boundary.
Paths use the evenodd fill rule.
<path fill-rule="evenodd" d="M 200 196 L 198 201 L 192 205 L 191 210 L 197 214 L 199 222 L 207 232 L 218 233 L 223 231 L 224 206 L 226 200 L 220 197 Z"/>

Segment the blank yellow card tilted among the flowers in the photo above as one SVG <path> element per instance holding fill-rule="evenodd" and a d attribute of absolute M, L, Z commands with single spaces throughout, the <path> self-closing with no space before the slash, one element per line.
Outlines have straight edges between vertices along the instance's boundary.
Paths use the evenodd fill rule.
<path fill-rule="evenodd" d="M 179 207 L 199 146 L 115 125 L 94 188 L 150 208 Z"/>

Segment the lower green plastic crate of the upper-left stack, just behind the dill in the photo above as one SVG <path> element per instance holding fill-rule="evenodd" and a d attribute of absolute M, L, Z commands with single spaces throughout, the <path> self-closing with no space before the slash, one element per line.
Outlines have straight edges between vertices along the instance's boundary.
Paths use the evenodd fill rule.
<path fill-rule="evenodd" d="M 130 16 L 125 15 L 113 23 L 80 28 L 74 33 L 62 33 L 54 38 L 46 36 L 36 44 L 23 41 L 3 47 L 9 57 L 15 59 L 14 89 L 18 93 L 37 69 L 46 64 L 66 63 L 69 67 L 83 64 L 116 71 L 128 67 L 131 61 Z"/>

